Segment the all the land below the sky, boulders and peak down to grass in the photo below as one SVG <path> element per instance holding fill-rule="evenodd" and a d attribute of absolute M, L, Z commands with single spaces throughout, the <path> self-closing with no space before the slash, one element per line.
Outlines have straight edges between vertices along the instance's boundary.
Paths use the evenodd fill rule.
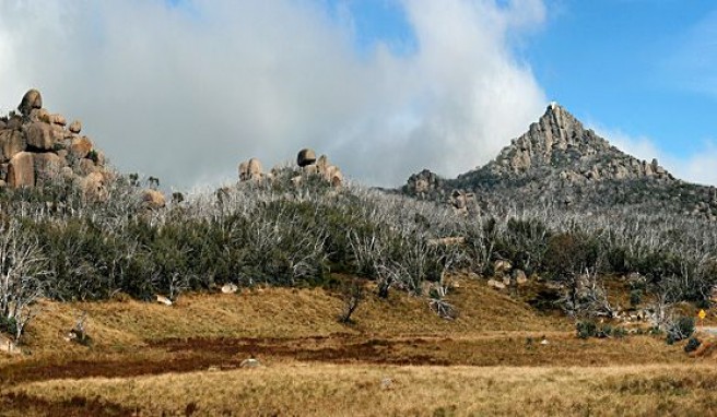
<path fill-rule="evenodd" d="M 2 415 L 715 403 L 716 345 L 692 317 L 717 286 L 717 224 L 681 212 L 707 189 L 559 106 L 477 171 L 412 178 L 422 200 L 344 181 L 304 148 L 165 202 L 157 179 L 108 166 L 87 189 L 89 154 L 71 152 L 84 141 L 31 93 L 0 120 L 2 145 L 22 145 L 0 183 Z M 33 131 L 55 133 L 40 148 Z M 707 354 L 685 354 L 695 344 Z"/>

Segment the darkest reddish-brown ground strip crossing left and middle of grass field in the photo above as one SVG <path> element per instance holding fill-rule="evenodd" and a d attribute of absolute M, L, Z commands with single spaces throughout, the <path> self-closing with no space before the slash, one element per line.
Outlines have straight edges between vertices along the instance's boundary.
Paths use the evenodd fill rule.
<path fill-rule="evenodd" d="M 426 353 L 424 339 L 365 339 L 339 334 L 304 338 L 173 338 L 151 342 L 158 358 L 74 359 L 61 364 L 23 361 L 0 369 L 0 386 L 17 382 L 236 369 L 248 357 L 322 362 L 450 365 Z"/>

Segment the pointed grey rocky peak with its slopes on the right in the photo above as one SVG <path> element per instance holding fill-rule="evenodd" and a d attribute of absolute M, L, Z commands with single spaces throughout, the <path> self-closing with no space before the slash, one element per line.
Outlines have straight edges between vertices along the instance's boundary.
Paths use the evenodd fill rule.
<path fill-rule="evenodd" d="M 552 204 L 576 211 L 668 211 L 717 221 L 714 187 L 678 180 L 656 159 L 625 154 L 557 104 L 485 166 L 456 179 L 423 170 L 402 191 L 450 202 L 463 212 L 471 205 Z"/>

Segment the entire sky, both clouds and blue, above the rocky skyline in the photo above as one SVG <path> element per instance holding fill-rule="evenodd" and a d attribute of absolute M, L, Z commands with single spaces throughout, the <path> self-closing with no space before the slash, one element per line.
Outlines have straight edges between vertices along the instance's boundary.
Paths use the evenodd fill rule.
<path fill-rule="evenodd" d="M 36 87 L 174 190 L 312 147 L 395 187 L 481 166 L 559 102 L 717 184 L 712 0 L 0 0 L 0 114 Z"/>

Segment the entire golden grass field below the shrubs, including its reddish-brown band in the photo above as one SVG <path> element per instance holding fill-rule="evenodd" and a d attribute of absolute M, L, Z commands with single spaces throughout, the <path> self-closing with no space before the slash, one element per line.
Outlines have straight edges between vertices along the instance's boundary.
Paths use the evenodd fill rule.
<path fill-rule="evenodd" d="M 44 302 L 25 354 L 0 356 L 0 415 L 717 415 L 713 349 L 583 341 L 560 315 L 458 282 L 452 321 L 399 293 L 368 297 L 351 325 L 322 289 Z M 63 338 L 83 311 L 89 347 Z M 262 366 L 239 367 L 249 357 Z"/>

